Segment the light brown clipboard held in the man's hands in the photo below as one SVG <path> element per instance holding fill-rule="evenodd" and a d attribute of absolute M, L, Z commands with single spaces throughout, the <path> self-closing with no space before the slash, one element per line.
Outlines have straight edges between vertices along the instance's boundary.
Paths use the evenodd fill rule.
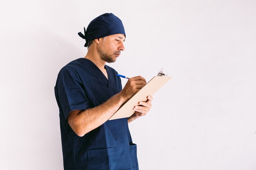
<path fill-rule="evenodd" d="M 140 101 L 146 101 L 147 96 L 153 96 L 164 84 L 166 84 L 172 77 L 170 76 L 155 76 L 143 88 L 141 88 L 135 95 L 133 95 L 125 104 L 123 104 L 117 112 L 110 117 L 109 120 L 121 119 L 130 117 L 135 113 L 132 108 Z"/>

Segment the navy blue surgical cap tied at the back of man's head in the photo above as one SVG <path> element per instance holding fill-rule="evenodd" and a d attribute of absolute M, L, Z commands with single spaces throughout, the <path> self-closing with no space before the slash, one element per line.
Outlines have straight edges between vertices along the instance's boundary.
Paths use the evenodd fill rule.
<path fill-rule="evenodd" d="M 108 35 L 124 34 L 124 36 L 126 36 L 122 21 L 112 13 L 99 15 L 90 22 L 86 31 L 85 27 L 83 27 L 83 29 L 85 35 L 81 32 L 79 32 L 78 35 L 86 40 L 85 47 L 88 45 L 89 41 Z"/>

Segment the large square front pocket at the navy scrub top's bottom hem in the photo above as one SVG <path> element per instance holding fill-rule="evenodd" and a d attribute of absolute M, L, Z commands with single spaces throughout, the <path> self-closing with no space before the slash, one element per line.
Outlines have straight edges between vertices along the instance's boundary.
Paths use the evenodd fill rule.
<path fill-rule="evenodd" d="M 115 148 L 88 150 L 89 170 L 117 170 Z"/>

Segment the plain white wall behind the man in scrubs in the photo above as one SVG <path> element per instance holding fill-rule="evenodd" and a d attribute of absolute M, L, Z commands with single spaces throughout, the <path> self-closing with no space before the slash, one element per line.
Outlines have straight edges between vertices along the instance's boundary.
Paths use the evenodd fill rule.
<path fill-rule="evenodd" d="M 62 170 L 54 85 L 84 57 L 83 26 L 117 15 L 126 50 L 114 64 L 173 76 L 132 122 L 141 170 L 256 169 L 256 1 L 12 0 L 0 5 L 0 169 Z M 125 79 L 122 81 L 125 84 Z"/>

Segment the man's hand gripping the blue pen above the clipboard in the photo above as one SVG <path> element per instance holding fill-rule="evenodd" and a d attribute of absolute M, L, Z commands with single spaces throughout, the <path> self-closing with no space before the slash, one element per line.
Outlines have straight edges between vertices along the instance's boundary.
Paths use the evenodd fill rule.
<path fill-rule="evenodd" d="M 120 95 L 127 101 L 135 93 L 146 85 L 146 80 L 141 76 L 132 77 L 128 80 L 124 89 L 120 92 Z"/>

